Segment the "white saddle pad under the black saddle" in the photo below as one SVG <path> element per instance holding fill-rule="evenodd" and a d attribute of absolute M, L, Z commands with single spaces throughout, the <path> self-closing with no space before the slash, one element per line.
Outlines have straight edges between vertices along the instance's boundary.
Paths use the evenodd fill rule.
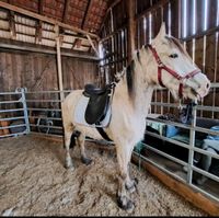
<path fill-rule="evenodd" d="M 110 121 L 111 121 L 111 106 L 108 106 L 108 111 L 106 112 L 106 116 L 105 118 L 101 122 L 101 125 L 95 125 L 95 124 L 88 124 L 85 122 L 85 110 L 87 110 L 87 106 L 88 106 L 88 103 L 89 103 L 89 97 L 82 95 L 78 102 L 78 104 L 76 105 L 76 111 L 74 111 L 74 114 L 73 114 L 73 119 L 77 124 L 81 124 L 81 125 L 84 125 L 84 126 L 89 126 L 89 127 L 107 127 L 107 125 L 110 124 Z"/>

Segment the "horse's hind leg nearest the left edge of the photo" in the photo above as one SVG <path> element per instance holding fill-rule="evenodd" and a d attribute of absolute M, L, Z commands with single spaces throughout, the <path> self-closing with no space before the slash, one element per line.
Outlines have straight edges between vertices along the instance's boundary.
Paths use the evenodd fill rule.
<path fill-rule="evenodd" d="M 66 162 L 65 168 L 73 170 L 73 163 L 70 156 L 70 142 L 71 142 L 71 135 L 73 131 L 72 125 L 66 125 L 65 129 L 65 147 L 66 147 Z"/>

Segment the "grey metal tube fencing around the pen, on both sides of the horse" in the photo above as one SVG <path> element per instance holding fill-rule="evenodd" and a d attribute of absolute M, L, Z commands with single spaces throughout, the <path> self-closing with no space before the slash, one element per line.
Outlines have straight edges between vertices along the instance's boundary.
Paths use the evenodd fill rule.
<path fill-rule="evenodd" d="M 216 83 L 211 87 L 212 87 L 211 89 L 219 88 L 219 83 Z M 71 90 L 65 90 L 64 93 L 68 94 L 70 91 Z M 4 101 L 2 100 L 0 102 L 0 124 L 1 124 L 0 139 L 5 138 L 5 137 L 22 136 L 30 133 L 62 138 L 64 129 L 62 129 L 62 118 L 61 118 L 61 108 L 60 108 L 61 105 L 60 105 L 60 100 L 59 100 L 59 93 L 60 93 L 59 91 L 28 92 L 25 89 L 19 89 L 15 92 L 5 92 L 5 93 L 1 92 L 0 96 Z M 42 97 L 42 94 L 45 96 L 46 95 L 49 95 L 49 96 Z M 13 100 L 11 100 L 10 96 L 13 96 Z M 14 105 L 16 106 L 19 105 L 19 106 L 16 108 L 11 108 Z M 151 105 L 168 106 L 170 108 L 177 107 L 177 105 L 173 103 L 165 104 L 165 103 L 152 102 Z M 183 106 L 186 106 L 186 105 L 184 104 Z M 219 202 L 219 188 L 217 193 L 214 193 L 215 191 L 206 190 L 205 185 L 203 186 L 203 185 L 194 184 L 193 182 L 195 175 L 199 174 L 201 176 L 208 177 L 208 180 L 210 180 L 214 185 L 219 186 L 218 175 L 211 172 L 208 172 L 207 170 L 204 170 L 196 164 L 197 162 L 196 157 L 195 157 L 196 154 L 199 154 L 201 157 L 208 157 L 208 158 L 219 161 L 218 153 L 209 152 L 208 150 L 205 150 L 201 147 L 197 147 L 195 145 L 197 133 L 203 133 L 203 134 L 216 136 L 216 137 L 219 136 L 219 131 L 217 130 L 204 128 L 196 125 L 196 119 L 197 119 L 196 112 L 198 112 L 199 110 L 218 112 L 219 107 L 218 106 L 210 107 L 210 106 L 204 106 L 204 105 L 194 106 L 192 124 L 183 124 L 183 123 L 173 122 L 173 121 L 165 121 L 158 117 L 154 118 L 154 116 L 152 117 L 148 116 L 146 118 L 148 125 L 162 124 L 162 125 L 168 125 L 168 126 L 174 126 L 181 129 L 185 129 L 189 133 L 189 140 L 185 142 L 185 141 L 176 140 L 174 138 L 166 137 L 164 135 L 158 135 L 149 130 L 146 130 L 147 137 L 153 137 L 161 141 L 165 141 L 171 145 L 174 145 L 175 148 L 185 149 L 187 151 L 186 160 L 174 157 L 173 154 L 165 152 L 165 150 L 160 150 L 153 147 L 153 145 L 147 144 L 147 141 L 146 142 L 141 141 L 141 145 L 143 145 L 143 149 L 146 151 L 145 154 L 140 153 L 140 151 L 136 152 L 136 149 L 134 153 L 138 154 L 139 162 L 141 159 L 147 160 L 148 162 L 153 163 L 159 169 L 162 169 L 162 171 L 164 171 L 165 173 L 169 173 L 170 175 L 174 176 L 175 179 L 180 181 L 183 181 L 184 183 L 195 188 L 196 191 L 201 192 L 208 197 Z M 2 116 L 2 114 L 4 116 Z M 8 123 L 8 126 L 2 125 L 3 123 Z M 9 125 L 9 123 L 11 124 Z M 5 133 L 2 134 L 2 131 L 5 131 Z M 87 138 L 87 140 L 95 141 L 94 139 L 90 139 L 90 138 Z M 149 156 L 147 156 L 147 152 L 149 152 Z M 151 153 L 152 156 L 150 156 Z M 171 161 L 172 164 L 180 165 L 181 174 L 180 175 L 177 173 L 175 174 L 172 170 L 169 170 L 164 165 L 165 160 Z M 209 188 L 209 185 L 208 185 L 208 188 Z"/>

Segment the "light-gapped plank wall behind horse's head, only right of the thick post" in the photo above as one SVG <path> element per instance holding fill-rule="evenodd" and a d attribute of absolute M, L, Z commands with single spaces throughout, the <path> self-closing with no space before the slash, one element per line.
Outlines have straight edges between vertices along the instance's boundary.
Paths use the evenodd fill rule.
<path fill-rule="evenodd" d="M 181 38 L 185 43 L 187 51 L 195 64 L 207 74 L 211 82 L 216 83 L 219 81 L 217 61 L 219 31 L 219 24 L 217 23 L 219 13 L 218 1 L 186 1 L 186 14 L 183 14 L 185 1 L 186 0 L 148 1 L 147 4 L 147 1 L 137 0 L 137 48 L 150 43 L 151 38 L 157 35 L 161 21 L 165 21 L 168 33 L 174 37 Z M 206 18 L 204 13 L 205 8 L 207 11 Z M 186 19 L 184 19 L 184 16 L 186 16 Z M 184 21 L 186 23 L 184 23 Z M 207 23 L 206 30 L 204 30 L 205 22 Z M 204 99 L 201 105 L 218 106 L 218 101 L 216 101 L 218 92 L 218 88 L 211 89 L 210 93 Z M 166 91 L 155 91 L 152 101 L 174 103 L 173 97 Z M 185 101 L 184 103 L 187 102 Z M 177 110 L 152 106 L 152 112 L 161 114 L 177 113 Z M 198 116 L 219 118 L 219 113 L 199 111 Z"/>

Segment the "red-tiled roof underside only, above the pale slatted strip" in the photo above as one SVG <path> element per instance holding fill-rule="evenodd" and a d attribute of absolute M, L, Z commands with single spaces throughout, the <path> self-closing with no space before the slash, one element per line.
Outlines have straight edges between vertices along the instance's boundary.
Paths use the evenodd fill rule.
<path fill-rule="evenodd" d="M 108 0 L 8 0 L 5 2 L 96 33 Z"/>

